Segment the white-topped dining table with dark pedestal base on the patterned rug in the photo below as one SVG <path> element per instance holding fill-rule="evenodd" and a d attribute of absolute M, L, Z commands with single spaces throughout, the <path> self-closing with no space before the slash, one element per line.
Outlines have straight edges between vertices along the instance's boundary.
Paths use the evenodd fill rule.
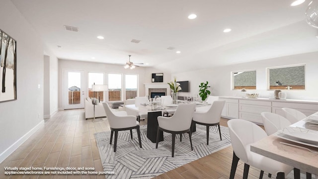
<path fill-rule="evenodd" d="M 181 102 L 183 103 L 183 102 Z M 170 104 L 170 105 L 162 105 L 159 106 L 157 104 L 142 104 L 136 106 L 135 104 L 125 105 L 126 111 L 128 115 L 136 115 L 139 117 L 139 113 L 148 113 L 147 117 L 147 138 L 153 143 L 157 142 L 157 130 L 158 130 L 158 116 L 162 116 L 167 109 L 176 109 L 178 104 Z M 196 102 L 196 111 L 207 111 L 211 107 L 211 104 Z M 194 123 L 191 124 L 190 127 L 191 132 L 196 131 L 196 125 Z M 163 132 L 159 132 L 159 142 L 163 141 Z"/>

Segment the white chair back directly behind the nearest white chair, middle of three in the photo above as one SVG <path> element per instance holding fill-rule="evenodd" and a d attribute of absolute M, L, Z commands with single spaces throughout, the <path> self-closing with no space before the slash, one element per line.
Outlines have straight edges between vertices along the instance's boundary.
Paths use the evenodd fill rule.
<path fill-rule="evenodd" d="M 262 112 L 261 116 L 267 135 L 272 135 L 278 130 L 291 125 L 291 122 L 288 119 L 279 114 Z"/>

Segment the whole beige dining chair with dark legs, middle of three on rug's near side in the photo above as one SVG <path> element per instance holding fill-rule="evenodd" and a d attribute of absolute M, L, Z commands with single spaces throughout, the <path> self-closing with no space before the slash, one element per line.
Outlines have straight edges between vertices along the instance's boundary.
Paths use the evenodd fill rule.
<path fill-rule="evenodd" d="M 195 103 L 179 104 L 173 116 L 158 117 L 156 149 L 158 148 L 158 143 L 159 143 L 159 133 L 160 131 L 163 131 L 163 132 L 168 132 L 172 134 L 172 151 L 171 151 L 172 157 L 174 157 L 175 134 L 182 135 L 183 133 L 188 133 L 190 144 L 191 144 L 191 150 L 193 150 L 190 126 L 191 126 L 192 116 L 195 111 L 195 107 L 196 107 Z"/>

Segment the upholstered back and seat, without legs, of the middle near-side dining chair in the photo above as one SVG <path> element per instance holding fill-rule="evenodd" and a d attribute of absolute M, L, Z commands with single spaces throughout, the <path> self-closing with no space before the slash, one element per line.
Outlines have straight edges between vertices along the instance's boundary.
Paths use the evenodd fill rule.
<path fill-rule="evenodd" d="M 160 123 L 159 126 L 171 131 L 184 131 L 190 128 L 192 116 L 195 111 L 196 104 L 179 104 L 172 117 L 170 117 L 168 123 Z"/>

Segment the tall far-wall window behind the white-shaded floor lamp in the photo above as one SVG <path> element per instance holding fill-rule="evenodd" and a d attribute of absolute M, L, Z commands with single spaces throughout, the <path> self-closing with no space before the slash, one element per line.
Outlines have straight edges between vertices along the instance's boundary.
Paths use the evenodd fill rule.
<path fill-rule="evenodd" d="M 94 92 L 91 90 L 92 85 L 104 85 L 104 73 L 88 72 L 88 97 L 99 98 L 104 101 L 104 92 Z"/>

